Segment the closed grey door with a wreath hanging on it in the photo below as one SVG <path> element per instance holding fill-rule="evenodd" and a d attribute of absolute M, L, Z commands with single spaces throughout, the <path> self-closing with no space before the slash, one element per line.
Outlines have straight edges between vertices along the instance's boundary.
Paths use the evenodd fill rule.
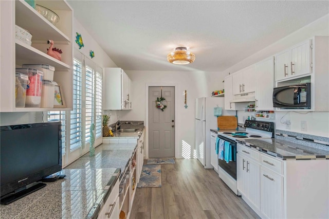
<path fill-rule="evenodd" d="M 175 87 L 149 87 L 148 117 L 149 157 L 175 157 Z"/>

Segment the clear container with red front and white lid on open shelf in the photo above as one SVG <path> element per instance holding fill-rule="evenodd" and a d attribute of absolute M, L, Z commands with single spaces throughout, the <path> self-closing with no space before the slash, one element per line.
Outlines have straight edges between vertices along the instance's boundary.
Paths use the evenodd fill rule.
<path fill-rule="evenodd" d="M 16 72 L 27 75 L 25 107 L 40 107 L 43 72 L 34 68 L 16 68 Z"/>

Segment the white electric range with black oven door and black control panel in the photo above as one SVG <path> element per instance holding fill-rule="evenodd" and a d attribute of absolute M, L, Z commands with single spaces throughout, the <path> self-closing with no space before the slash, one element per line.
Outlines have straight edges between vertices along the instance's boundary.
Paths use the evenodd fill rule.
<path fill-rule="evenodd" d="M 229 162 L 224 159 L 218 158 L 218 175 L 225 182 L 225 184 L 236 194 L 236 143 L 237 141 L 243 141 L 244 139 L 264 139 L 274 137 L 274 123 L 264 122 L 256 120 L 246 120 L 245 131 L 218 131 L 217 137 L 222 141 L 230 143 L 232 157 L 235 159 Z"/>

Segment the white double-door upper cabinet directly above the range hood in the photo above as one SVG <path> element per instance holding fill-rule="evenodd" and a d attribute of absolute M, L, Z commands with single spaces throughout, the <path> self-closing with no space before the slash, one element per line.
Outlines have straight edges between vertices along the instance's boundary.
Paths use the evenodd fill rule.
<path fill-rule="evenodd" d="M 251 93 L 255 91 L 254 65 L 239 70 L 233 74 L 233 95 Z"/>

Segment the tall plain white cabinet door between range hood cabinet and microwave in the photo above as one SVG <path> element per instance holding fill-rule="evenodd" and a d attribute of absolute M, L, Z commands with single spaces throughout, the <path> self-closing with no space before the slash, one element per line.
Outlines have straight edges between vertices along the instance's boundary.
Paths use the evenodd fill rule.
<path fill-rule="evenodd" d="M 255 64 L 255 108 L 273 110 L 274 58 L 269 57 Z"/>

